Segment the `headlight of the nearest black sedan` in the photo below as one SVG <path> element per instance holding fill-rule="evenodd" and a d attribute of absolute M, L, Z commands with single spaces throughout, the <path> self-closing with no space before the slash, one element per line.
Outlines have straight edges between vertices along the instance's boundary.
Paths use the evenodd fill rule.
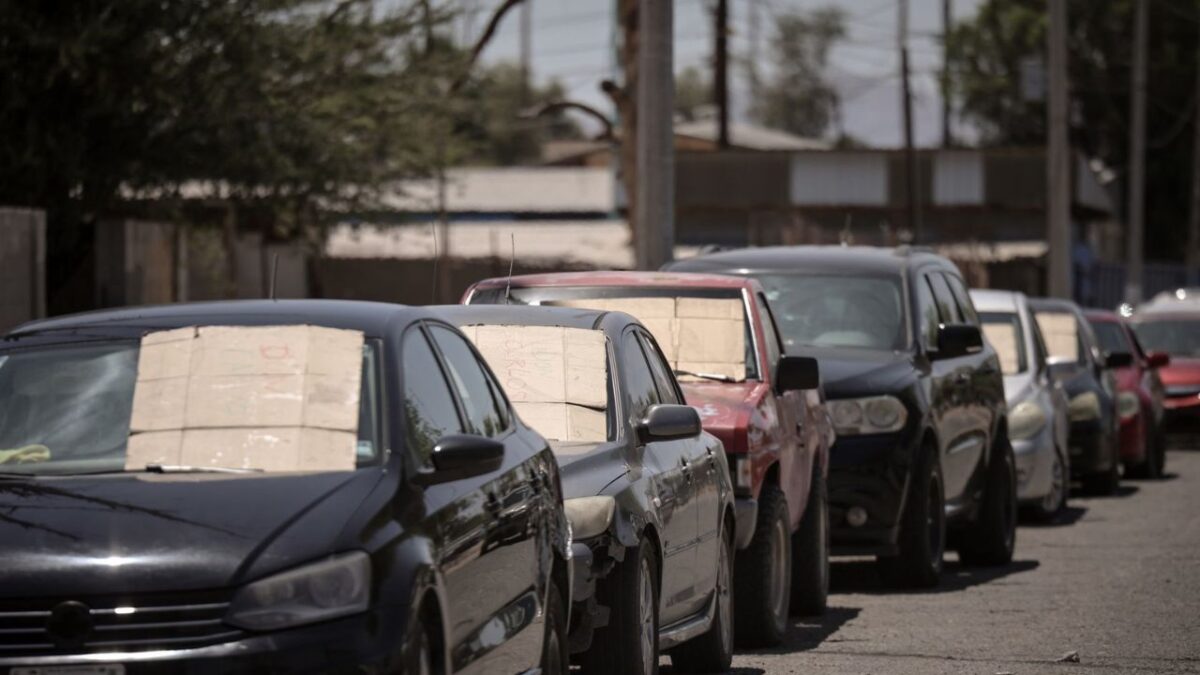
<path fill-rule="evenodd" d="M 290 628 L 366 611 L 370 601 L 371 558 L 354 551 L 246 585 L 226 622 L 247 631 Z"/>

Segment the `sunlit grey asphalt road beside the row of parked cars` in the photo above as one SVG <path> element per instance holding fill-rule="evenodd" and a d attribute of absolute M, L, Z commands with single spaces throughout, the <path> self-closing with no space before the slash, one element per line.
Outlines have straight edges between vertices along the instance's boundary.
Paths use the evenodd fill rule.
<path fill-rule="evenodd" d="M 829 610 L 734 673 L 1200 673 L 1200 452 L 1118 496 L 1073 496 L 1058 525 L 1022 526 L 1004 568 L 960 567 L 895 592 L 871 561 L 836 560 Z M 1079 663 L 1058 663 L 1078 652 Z"/>

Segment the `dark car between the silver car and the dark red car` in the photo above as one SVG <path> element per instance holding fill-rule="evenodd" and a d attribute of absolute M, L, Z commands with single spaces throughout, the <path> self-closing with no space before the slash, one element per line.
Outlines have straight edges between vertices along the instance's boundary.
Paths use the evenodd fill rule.
<path fill-rule="evenodd" d="M 1050 371 L 1067 392 L 1070 420 L 1070 471 L 1093 495 L 1111 495 L 1121 482 L 1121 422 L 1112 369 L 1129 364 L 1129 354 L 1100 352 L 1092 325 L 1070 300 L 1031 298 L 1050 354 Z"/>

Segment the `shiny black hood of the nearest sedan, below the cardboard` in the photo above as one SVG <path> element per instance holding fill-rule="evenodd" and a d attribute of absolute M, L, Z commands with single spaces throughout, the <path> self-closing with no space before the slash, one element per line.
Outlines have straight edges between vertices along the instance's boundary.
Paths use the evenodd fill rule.
<path fill-rule="evenodd" d="M 335 552 L 378 470 L 0 479 L 0 597 L 215 590 Z"/>

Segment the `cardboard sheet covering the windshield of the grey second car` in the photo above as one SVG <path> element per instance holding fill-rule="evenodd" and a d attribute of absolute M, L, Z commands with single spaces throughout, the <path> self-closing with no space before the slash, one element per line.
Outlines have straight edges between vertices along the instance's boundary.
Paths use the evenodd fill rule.
<path fill-rule="evenodd" d="M 608 436 L 604 333 L 553 325 L 466 325 L 517 413 L 553 441 Z"/>

